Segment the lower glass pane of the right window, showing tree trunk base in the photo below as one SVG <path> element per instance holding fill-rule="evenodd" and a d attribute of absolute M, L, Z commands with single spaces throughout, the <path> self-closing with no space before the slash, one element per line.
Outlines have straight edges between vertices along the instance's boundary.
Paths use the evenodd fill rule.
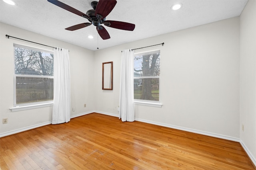
<path fill-rule="evenodd" d="M 134 79 L 134 99 L 159 101 L 159 78 Z"/>

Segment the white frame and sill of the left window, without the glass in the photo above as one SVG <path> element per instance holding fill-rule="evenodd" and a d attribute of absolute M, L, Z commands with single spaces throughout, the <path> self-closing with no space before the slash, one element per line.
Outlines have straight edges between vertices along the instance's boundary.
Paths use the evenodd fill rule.
<path fill-rule="evenodd" d="M 54 53 L 53 50 L 42 49 L 42 48 L 29 46 L 29 45 L 13 44 L 13 49 L 15 47 L 30 49 L 30 50 L 40 51 L 40 52 L 50 53 L 50 54 Z M 15 58 L 15 52 L 13 54 L 13 57 Z M 14 62 L 15 62 L 15 59 L 14 59 Z M 50 78 L 50 79 L 53 79 L 53 81 L 54 81 L 54 76 L 15 74 L 15 63 L 13 63 L 13 66 L 14 66 L 14 68 L 13 68 L 13 71 L 14 71 L 14 73 L 13 73 L 13 75 L 14 75 L 14 88 L 13 88 L 13 90 L 14 90 L 14 104 L 13 104 L 13 107 L 10 108 L 10 110 L 20 111 L 20 110 L 26 110 L 26 109 L 32 109 L 32 108 L 38 108 L 38 107 L 52 106 L 53 105 L 53 100 L 40 101 L 40 102 L 27 102 L 27 103 L 23 103 L 23 104 L 17 104 L 16 103 L 16 78 L 17 77 Z"/>

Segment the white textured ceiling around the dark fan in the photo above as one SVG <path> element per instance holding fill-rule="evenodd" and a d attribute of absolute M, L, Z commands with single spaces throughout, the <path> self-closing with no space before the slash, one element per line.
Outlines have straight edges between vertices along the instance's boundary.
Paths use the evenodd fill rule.
<path fill-rule="evenodd" d="M 86 13 L 93 0 L 59 0 Z M 14 0 L 15 6 L 0 0 L 0 21 L 66 41 L 90 50 L 112 47 L 164 33 L 178 31 L 214 21 L 240 16 L 247 0 L 117 0 L 106 20 L 124 21 L 136 25 L 134 31 L 104 26 L 110 39 L 97 36 L 96 27 L 67 31 L 66 27 L 88 22 L 47 0 Z M 180 10 L 171 10 L 174 3 L 182 3 Z M 6 33 L 8 34 L 8 33 Z M 89 39 L 88 35 L 94 36 Z M 12 36 L 12 35 L 11 35 Z M 28 39 L 29 37 L 19 37 Z M 38 40 L 37 43 L 40 43 Z"/>

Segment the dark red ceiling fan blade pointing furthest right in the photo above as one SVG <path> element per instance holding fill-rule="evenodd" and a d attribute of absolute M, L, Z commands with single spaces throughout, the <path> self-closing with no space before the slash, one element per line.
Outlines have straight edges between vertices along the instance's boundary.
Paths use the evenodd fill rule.
<path fill-rule="evenodd" d="M 108 27 L 116 28 L 116 29 L 127 30 L 127 31 L 133 31 L 135 28 L 135 24 L 128 23 L 128 22 L 122 22 L 122 21 L 107 20 L 107 21 L 104 21 L 104 25 L 106 25 Z"/>

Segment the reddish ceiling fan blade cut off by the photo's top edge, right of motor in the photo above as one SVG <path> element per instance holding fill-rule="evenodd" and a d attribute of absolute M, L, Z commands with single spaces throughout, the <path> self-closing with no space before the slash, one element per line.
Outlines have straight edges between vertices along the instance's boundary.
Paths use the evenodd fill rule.
<path fill-rule="evenodd" d="M 99 0 L 95 9 L 95 16 L 99 14 L 102 18 L 105 18 L 113 10 L 116 2 L 116 0 Z"/>

